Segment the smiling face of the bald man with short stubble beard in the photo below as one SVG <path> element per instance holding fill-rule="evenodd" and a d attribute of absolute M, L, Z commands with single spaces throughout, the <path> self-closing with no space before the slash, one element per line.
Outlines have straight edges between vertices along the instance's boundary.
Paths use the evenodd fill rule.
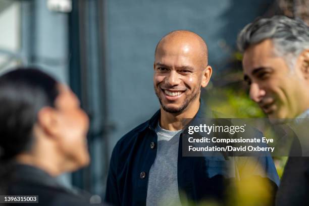
<path fill-rule="evenodd" d="M 189 44 L 166 42 L 158 47 L 153 86 L 166 112 L 181 113 L 199 100 L 200 87 L 207 85 L 199 58 L 196 48 Z"/>

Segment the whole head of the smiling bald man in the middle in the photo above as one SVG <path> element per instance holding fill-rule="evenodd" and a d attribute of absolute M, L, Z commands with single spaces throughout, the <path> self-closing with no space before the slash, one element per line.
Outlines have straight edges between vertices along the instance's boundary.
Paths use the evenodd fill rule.
<path fill-rule="evenodd" d="M 198 109 L 200 89 L 212 75 L 207 45 L 199 35 L 186 30 L 168 33 L 157 44 L 153 69 L 155 91 L 165 112 Z"/>

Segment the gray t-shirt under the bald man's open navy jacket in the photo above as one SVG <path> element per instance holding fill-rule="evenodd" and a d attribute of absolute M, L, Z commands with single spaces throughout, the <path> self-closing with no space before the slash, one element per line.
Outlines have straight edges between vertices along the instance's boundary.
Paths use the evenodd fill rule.
<path fill-rule="evenodd" d="M 158 135 L 157 156 L 149 171 L 146 205 L 181 205 L 177 160 L 182 130 L 165 130 L 158 123 L 155 131 Z"/>

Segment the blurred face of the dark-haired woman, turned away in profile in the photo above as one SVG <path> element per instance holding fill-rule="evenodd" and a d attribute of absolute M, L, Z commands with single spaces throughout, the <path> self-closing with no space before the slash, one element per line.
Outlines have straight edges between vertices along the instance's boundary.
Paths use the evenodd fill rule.
<path fill-rule="evenodd" d="M 66 157 L 70 169 L 78 169 L 89 163 L 87 132 L 89 119 L 80 108 L 79 100 L 67 87 L 60 86 L 55 102 L 58 120 L 58 148 Z"/>

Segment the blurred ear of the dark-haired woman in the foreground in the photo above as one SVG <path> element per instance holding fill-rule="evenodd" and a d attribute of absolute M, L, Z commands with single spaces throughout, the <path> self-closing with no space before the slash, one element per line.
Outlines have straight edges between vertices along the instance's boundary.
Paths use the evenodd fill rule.
<path fill-rule="evenodd" d="M 59 127 L 55 109 L 51 107 L 42 108 L 38 112 L 37 123 L 47 136 L 58 136 Z"/>

